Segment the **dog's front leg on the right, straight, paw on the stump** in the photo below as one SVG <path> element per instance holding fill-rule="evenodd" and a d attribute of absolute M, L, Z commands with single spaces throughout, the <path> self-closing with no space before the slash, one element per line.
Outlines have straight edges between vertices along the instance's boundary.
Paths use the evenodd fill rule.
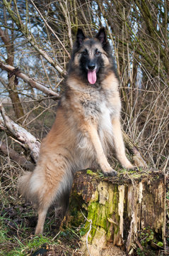
<path fill-rule="evenodd" d="M 130 163 L 125 154 L 124 142 L 122 138 L 122 129 L 119 118 L 112 119 L 112 130 L 117 159 L 120 161 L 120 164 L 122 164 L 124 168 L 133 169 L 134 166 Z"/>

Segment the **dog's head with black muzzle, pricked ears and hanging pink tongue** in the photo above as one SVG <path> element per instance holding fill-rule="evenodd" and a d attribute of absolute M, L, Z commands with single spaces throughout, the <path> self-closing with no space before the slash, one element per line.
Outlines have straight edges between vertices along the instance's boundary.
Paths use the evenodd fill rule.
<path fill-rule="evenodd" d="M 110 65 L 111 58 L 105 28 L 100 28 L 95 38 L 86 37 L 78 28 L 72 59 L 74 66 L 82 71 L 91 85 L 95 84 L 103 69 Z"/>

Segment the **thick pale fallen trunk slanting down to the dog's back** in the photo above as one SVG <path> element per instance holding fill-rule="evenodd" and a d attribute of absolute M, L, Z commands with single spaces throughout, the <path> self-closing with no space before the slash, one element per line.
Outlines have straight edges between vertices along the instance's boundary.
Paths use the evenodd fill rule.
<path fill-rule="evenodd" d="M 20 125 L 16 124 L 10 117 L 7 116 L 4 107 L 0 104 L 0 122 L 2 127 L 6 127 L 8 131 L 22 144 L 25 149 L 30 149 L 30 156 L 33 161 L 37 161 L 40 150 L 40 142 L 33 134 L 30 134 Z"/>

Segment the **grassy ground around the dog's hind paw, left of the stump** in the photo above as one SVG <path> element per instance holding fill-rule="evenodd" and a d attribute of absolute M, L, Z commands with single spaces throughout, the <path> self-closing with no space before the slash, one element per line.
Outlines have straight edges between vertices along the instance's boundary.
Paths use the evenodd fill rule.
<path fill-rule="evenodd" d="M 10 202 L 3 199 L 0 204 L 0 255 L 81 255 L 78 231 L 59 230 L 60 220 L 55 218 L 54 209 L 47 216 L 44 235 L 35 236 L 35 210 L 17 198 L 14 203 L 12 197 Z"/>

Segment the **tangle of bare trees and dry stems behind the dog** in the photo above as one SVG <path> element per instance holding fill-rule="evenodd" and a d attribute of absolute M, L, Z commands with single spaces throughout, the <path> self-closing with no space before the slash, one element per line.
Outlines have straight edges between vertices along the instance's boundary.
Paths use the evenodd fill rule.
<path fill-rule="evenodd" d="M 6 198 L 13 201 L 17 177 L 26 167 L 23 161 L 28 167 L 36 160 L 29 146 L 10 131 L 6 117 L 37 142 L 45 137 L 64 92 L 78 27 L 89 36 L 100 26 L 107 28 L 120 76 L 122 127 L 149 166 L 168 171 L 168 11 L 167 0 L 0 2 L 1 218 L 11 209 L 13 202 Z"/>

